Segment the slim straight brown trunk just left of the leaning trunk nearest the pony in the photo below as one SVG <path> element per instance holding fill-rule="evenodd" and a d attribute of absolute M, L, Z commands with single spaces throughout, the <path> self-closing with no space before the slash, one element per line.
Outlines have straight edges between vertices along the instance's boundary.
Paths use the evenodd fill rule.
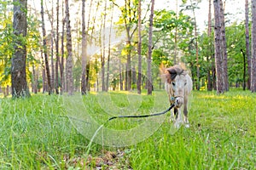
<path fill-rule="evenodd" d="M 137 94 L 142 94 L 142 5 L 141 0 L 138 0 L 138 43 L 137 43 L 137 54 L 138 54 L 138 71 L 137 71 Z"/>

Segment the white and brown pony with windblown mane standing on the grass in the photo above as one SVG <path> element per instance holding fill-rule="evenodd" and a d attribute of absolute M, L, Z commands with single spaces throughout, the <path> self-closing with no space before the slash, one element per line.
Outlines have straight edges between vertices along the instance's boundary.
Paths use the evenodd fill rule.
<path fill-rule="evenodd" d="M 174 111 L 171 111 L 171 120 L 174 122 L 175 127 L 180 127 L 181 123 L 183 123 L 185 127 L 189 127 L 188 100 L 193 87 L 189 71 L 186 71 L 185 67 L 182 65 L 173 65 L 165 69 L 164 75 L 166 79 L 165 89 L 170 104 L 175 105 Z"/>

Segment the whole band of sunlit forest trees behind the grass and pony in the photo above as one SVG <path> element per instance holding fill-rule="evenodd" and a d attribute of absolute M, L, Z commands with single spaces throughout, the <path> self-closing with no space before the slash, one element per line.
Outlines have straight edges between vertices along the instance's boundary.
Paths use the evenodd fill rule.
<path fill-rule="evenodd" d="M 242 85 L 255 92 L 254 0 L 251 4 L 245 0 L 242 23 L 225 19 L 222 0 L 213 0 L 213 20 L 209 0 L 208 27 L 202 33 L 195 18 L 200 2 L 183 1 L 179 11 L 155 10 L 154 3 L 159 2 L 82 0 L 72 6 L 68 0 L 41 0 L 38 10 L 26 0 L 1 2 L 2 90 L 9 94 L 11 87 L 13 97 L 38 91 L 86 94 L 117 89 L 137 89 L 141 94 L 143 88 L 152 94 L 154 88 L 163 86 L 160 65 L 184 62 L 197 90 L 215 89 L 223 94 L 230 87 Z M 75 14 L 74 8 L 79 8 Z M 186 10 L 193 16 L 185 14 Z M 119 18 L 113 21 L 116 11 Z M 122 32 L 125 43 L 113 44 L 111 39 Z M 91 44 L 100 50 L 90 54 Z"/>

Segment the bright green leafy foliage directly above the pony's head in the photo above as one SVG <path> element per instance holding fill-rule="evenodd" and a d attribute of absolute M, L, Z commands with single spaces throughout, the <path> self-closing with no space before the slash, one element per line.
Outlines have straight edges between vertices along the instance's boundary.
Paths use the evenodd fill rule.
<path fill-rule="evenodd" d="M 154 43 L 157 48 L 168 54 L 168 59 L 172 62 L 175 48 L 183 52 L 183 59 L 191 55 L 193 47 L 194 23 L 189 15 L 180 12 L 177 14 L 166 9 L 155 11 L 154 18 Z M 175 44 L 175 38 L 177 44 Z"/>

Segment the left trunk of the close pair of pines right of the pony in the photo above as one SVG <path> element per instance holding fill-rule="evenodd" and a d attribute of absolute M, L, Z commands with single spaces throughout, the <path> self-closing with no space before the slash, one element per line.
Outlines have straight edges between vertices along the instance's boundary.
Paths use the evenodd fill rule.
<path fill-rule="evenodd" d="M 213 0 L 214 4 L 214 18 L 215 18 L 215 65 L 217 75 L 217 94 L 224 93 L 224 77 L 223 77 L 223 53 L 222 53 L 222 41 L 221 41 L 221 19 L 220 19 L 220 5 L 219 0 Z"/>

